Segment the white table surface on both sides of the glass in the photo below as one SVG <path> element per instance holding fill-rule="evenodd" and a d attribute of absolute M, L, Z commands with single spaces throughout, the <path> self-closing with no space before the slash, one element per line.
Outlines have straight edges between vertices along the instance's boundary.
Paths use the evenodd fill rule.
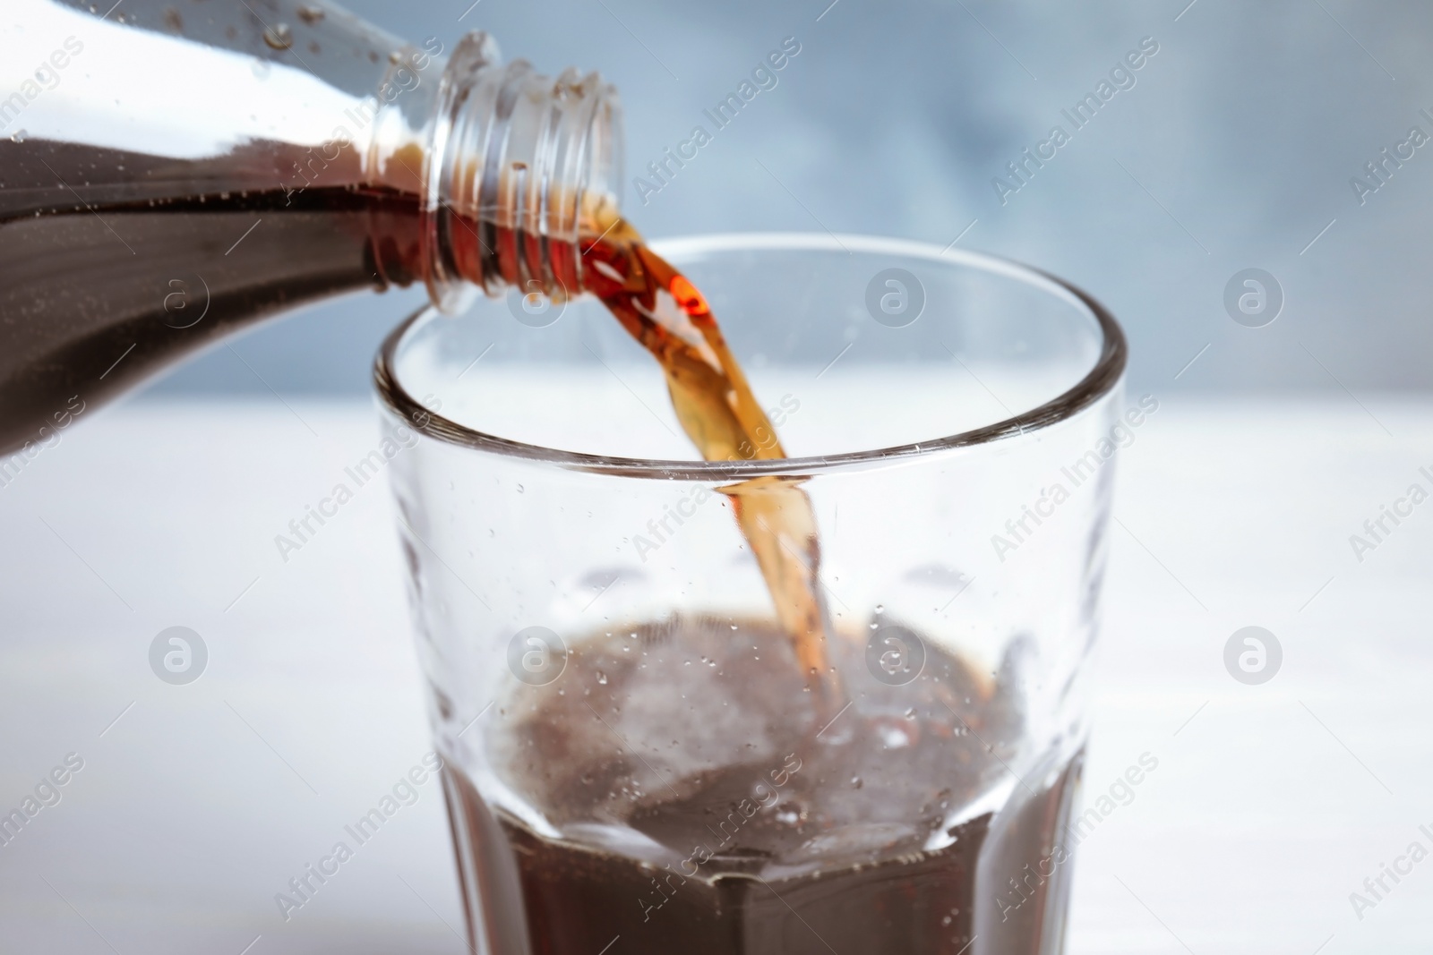
<path fill-rule="evenodd" d="M 1159 766 L 1080 845 L 1069 951 L 1429 951 L 1433 861 L 1348 901 L 1433 850 L 1433 501 L 1348 544 L 1433 490 L 1433 402 L 1360 399 L 1168 397 L 1121 452 L 1086 802 Z M 466 951 L 434 782 L 274 902 L 428 749 L 387 488 L 272 543 L 374 441 L 367 402 L 132 402 L 0 487 L 0 810 L 85 760 L 0 848 L 0 952 Z M 148 664 L 175 624 L 189 686 Z M 1224 670 L 1247 624 L 1284 647 L 1262 686 Z"/>

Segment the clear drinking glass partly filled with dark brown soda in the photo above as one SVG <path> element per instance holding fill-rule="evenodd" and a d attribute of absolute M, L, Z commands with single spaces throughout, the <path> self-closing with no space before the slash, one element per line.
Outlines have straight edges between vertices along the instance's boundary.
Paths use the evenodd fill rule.
<path fill-rule="evenodd" d="M 1113 457 L 1144 415 L 1118 325 L 919 243 L 655 248 L 792 457 L 698 460 L 589 299 L 423 311 L 378 357 L 470 944 L 1060 951 Z M 834 716 L 722 493 L 757 475 L 817 514 Z"/>

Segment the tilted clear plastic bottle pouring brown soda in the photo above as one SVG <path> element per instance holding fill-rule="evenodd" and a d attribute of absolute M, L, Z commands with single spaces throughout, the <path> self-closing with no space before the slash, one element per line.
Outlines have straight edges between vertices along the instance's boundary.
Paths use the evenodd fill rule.
<path fill-rule="evenodd" d="M 0 452 L 304 302 L 583 286 L 620 182 L 596 73 L 322 0 L 112 1 L 0 13 Z"/>

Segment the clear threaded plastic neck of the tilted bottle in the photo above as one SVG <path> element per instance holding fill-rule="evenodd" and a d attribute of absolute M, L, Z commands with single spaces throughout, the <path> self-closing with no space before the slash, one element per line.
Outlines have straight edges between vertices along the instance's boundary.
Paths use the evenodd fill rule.
<path fill-rule="evenodd" d="M 550 77 L 502 64 L 483 33 L 463 39 L 443 74 L 426 175 L 433 304 L 517 288 L 553 299 L 583 285 L 579 242 L 616 215 L 622 110 L 616 89 L 575 67 Z"/>

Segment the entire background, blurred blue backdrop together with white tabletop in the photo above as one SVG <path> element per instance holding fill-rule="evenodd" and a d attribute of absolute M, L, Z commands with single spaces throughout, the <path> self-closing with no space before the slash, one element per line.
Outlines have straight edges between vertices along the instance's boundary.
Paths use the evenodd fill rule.
<path fill-rule="evenodd" d="M 651 238 L 888 235 L 1102 299 L 1131 339 L 1126 404 L 1159 412 L 1119 452 L 1086 805 L 1142 753 L 1161 769 L 1080 846 L 1069 951 L 1427 951 L 1433 863 L 1371 909 L 1351 893 L 1433 848 L 1433 521 L 1350 541 L 1433 487 L 1433 146 L 1383 152 L 1433 135 L 1433 4 L 347 6 L 599 69 Z M 704 110 L 787 37 L 777 86 L 714 130 Z M 712 142 L 643 202 L 633 179 L 698 125 Z M 1069 140 L 1013 178 L 1056 126 Z M 1268 296 L 1252 316 L 1230 301 L 1248 269 Z M 269 322 L 0 490 L 0 810 L 85 760 L 0 848 L 0 952 L 469 951 L 431 782 L 312 905 L 275 906 L 430 746 L 388 491 L 275 553 L 374 448 L 374 351 L 423 301 Z M 148 656 L 173 626 L 208 644 L 192 686 Z M 1225 663 L 1248 626 L 1283 643 L 1261 686 Z"/>

